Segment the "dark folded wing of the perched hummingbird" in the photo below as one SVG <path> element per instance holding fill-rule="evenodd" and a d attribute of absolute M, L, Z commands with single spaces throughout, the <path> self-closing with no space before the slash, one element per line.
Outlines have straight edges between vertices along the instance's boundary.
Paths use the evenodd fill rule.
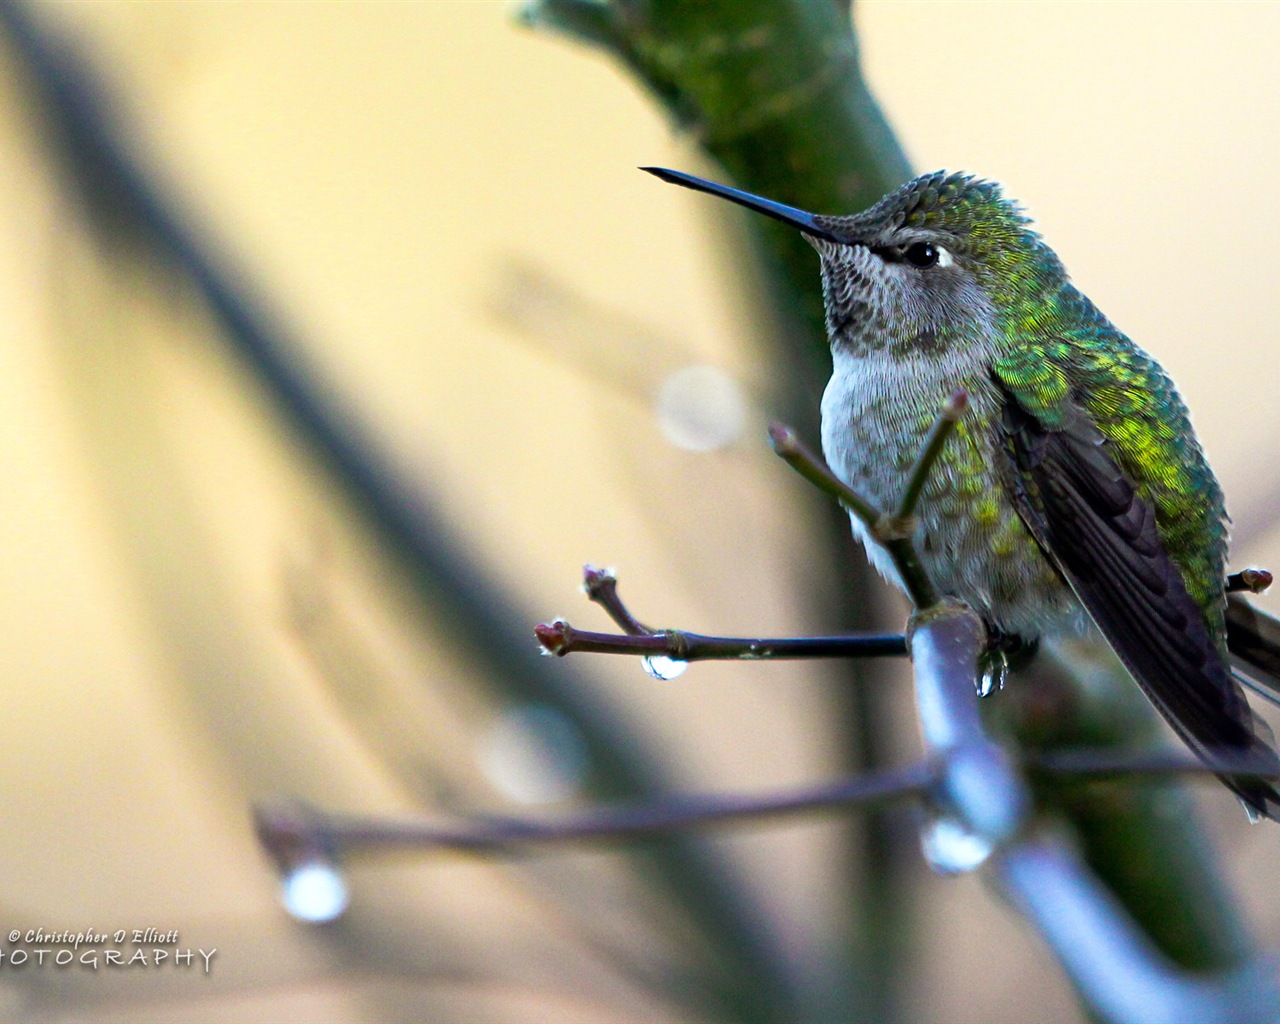
<path fill-rule="evenodd" d="M 1027 393 L 1016 369 L 997 364 L 995 378 L 1005 396 L 1002 468 L 1023 522 L 1192 750 L 1275 762 L 1111 442 L 1069 394 L 1048 404 L 1043 388 Z M 1270 782 L 1222 781 L 1254 810 L 1280 813 Z"/>

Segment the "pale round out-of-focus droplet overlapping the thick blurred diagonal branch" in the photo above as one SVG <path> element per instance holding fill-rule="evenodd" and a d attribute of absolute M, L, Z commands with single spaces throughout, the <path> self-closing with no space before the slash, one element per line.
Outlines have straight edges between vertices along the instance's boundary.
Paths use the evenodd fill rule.
<path fill-rule="evenodd" d="M 548 704 L 520 704 L 498 716 L 479 756 L 489 782 L 521 804 L 568 800 L 582 788 L 589 768 L 581 731 Z"/>

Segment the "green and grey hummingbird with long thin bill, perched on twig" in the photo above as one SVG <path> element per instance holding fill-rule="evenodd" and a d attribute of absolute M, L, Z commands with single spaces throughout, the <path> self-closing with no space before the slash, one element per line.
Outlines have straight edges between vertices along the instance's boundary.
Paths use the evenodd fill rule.
<path fill-rule="evenodd" d="M 872 504 L 896 507 L 943 401 L 968 392 L 913 535 L 940 594 L 1028 646 L 1092 621 L 1197 755 L 1280 769 L 1230 668 L 1226 509 L 1187 407 L 998 184 L 936 172 L 832 216 L 643 170 L 790 224 L 818 251 L 823 456 Z M 1219 777 L 1251 819 L 1280 819 L 1271 781 Z"/>

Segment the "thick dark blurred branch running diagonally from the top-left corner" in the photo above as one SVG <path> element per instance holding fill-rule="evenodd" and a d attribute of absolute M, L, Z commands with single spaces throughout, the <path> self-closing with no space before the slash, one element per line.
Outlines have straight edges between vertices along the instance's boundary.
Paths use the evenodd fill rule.
<path fill-rule="evenodd" d="M 671 788 L 662 762 L 591 698 L 582 680 L 549 671 L 518 640 L 527 616 L 466 550 L 426 495 L 398 480 L 338 396 L 302 366 L 307 347 L 283 330 L 266 312 L 268 303 L 257 301 L 244 279 L 215 257 L 216 247 L 192 227 L 182 204 L 159 186 L 127 142 L 116 105 L 90 65 L 69 44 L 47 33 L 26 4 L 0 4 L 0 31 L 28 76 L 49 137 L 60 147 L 69 184 L 109 239 L 109 251 L 150 260 L 195 284 L 221 335 L 284 422 L 343 489 L 388 559 L 445 620 L 448 635 L 467 652 L 476 672 L 507 696 L 536 694 L 573 717 L 589 748 L 598 796 Z M 778 1019 L 787 987 L 781 957 L 769 948 L 768 934 L 756 927 L 724 867 L 713 867 L 704 850 L 682 837 L 650 847 L 641 867 L 717 951 L 714 959 L 691 952 L 686 960 L 696 977 L 691 984 L 736 1019 Z"/>

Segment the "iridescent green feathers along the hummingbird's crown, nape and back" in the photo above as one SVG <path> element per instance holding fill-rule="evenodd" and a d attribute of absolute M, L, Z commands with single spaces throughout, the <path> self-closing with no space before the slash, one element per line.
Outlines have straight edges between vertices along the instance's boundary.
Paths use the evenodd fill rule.
<path fill-rule="evenodd" d="M 996 376 L 1050 429 L 1062 425 L 1070 403 L 1084 408 L 1155 508 L 1165 549 L 1221 644 L 1226 513 L 1187 407 L 1160 366 L 1070 283 L 1061 260 L 1000 186 L 936 172 L 855 218 L 820 220 L 947 236 L 982 280 L 1007 342 Z"/>

